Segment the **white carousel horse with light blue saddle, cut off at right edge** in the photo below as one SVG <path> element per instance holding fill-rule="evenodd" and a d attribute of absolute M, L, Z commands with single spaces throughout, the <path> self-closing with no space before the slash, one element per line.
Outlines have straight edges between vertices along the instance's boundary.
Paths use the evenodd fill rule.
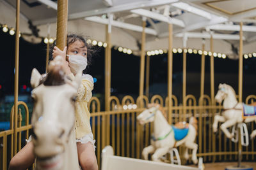
<path fill-rule="evenodd" d="M 227 138 L 233 138 L 234 132 L 231 134 L 227 130 L 228 127 L 236 125 L 237 123 L 241 124 L 243 122 L 256 122 L 255 107 L 248 106 L 243 103 L 238 103 L 236 99 L 236 92 L 230 85 L 220 83 L 219 90 L 215 96 L 215 100 L 218 103 L 223 101 L 224 110 L 222 111 L 222 116 L 215 115 L 212 125 L 213 132 L 217 132 L 218 122 L 225 122 L 221 124 L 220 129 L 225 133 Z M 250 134 L 250 137 L 253 138 L 255 135 L 256 130 Z"/>

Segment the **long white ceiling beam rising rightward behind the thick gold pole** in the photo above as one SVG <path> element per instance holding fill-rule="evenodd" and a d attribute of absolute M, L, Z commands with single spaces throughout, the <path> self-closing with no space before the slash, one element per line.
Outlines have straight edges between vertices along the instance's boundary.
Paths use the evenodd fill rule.
<path fill-rule="evenodd" d="M 77 18 L 84 18 L 84 17 L 92 17 L 95 15 L 103 15 L 106 13 L 116 13 L 120 11 L 129 11 L 133 9 L 138 9 L 138 8 L 147 8 L 151 6 L 160 6 L 164 4 L 171 4 L 171 3 L 177 3 L 178 0 L 151 0 L 151 1 L 138 1 L 136 3 L 125 3 L 125 4 L 120 4 L 117 6 L 111 6 L 109 8 L 101 8 L 101 9 L 95 9 L 95 10 L 90 10 L 90 11 L 83 11 L 83 12 L 78 12 L 78 13 L 70 13 L 68 14 L 68 20 L 74 20 Z M 43 25 L 43 24 L 48 24 L 56 22 L 56 17 L 54 18 L 47 18 L 45 20 L 34 20 L 33 24 L 35 25 Z"/>

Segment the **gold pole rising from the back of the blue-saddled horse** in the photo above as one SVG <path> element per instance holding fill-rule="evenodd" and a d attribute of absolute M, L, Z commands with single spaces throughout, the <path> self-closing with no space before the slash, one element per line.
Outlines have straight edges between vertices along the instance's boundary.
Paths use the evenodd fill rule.
<path fill-rule="evenodd" d="M 169 39 L 168 39 L 168 122 L 172 124 L 172 64 L 173 64 L 173 55 L 172 55 L 172 24 L 168 26 L 169 30 Z"/>

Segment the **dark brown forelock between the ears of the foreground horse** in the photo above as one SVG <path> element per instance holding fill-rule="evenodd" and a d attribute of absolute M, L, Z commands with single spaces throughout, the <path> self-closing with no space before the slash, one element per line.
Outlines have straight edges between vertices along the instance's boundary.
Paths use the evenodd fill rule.
<path fill-rule="evenodd" d="M 65 84 L 65 77 L 65 72 L 61 69 L 61 66 L 56 65 L 46 76 L 43 76 L 40 83 L 44 83 L 45 86 L 63 85 Z"/>

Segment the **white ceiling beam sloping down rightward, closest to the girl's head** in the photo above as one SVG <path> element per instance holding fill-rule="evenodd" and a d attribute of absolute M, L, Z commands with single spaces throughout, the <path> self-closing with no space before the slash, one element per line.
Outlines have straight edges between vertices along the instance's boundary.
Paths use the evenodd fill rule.
<path fill-rule="evenodd" d="M 105 25 L 108 24 L 108 19 L 104 19 L 104 18 L 101 18 L 101 17 L 86 17 L 86 18 L 84 18 L 84 20 L 89 20 L 89 21 L 92 21 L 92 22 L 97 22 L 97 23 L 105 24 Z M 142 32 L 143 31 L 143 27 L 141 27 L 139 25 L 127 24 L 125 22 L 119 22 L 119 21 L 116 21 L 116 20 L 113 20 L 111 22 L 111 25 L 114 26 L 114 27 L 119 27 L 119 28 L 122 28 L 122 29 L 129 29 L 129 30 L 137 31 L 137 32 Z M 154 29 L 145 28 L 145 32 L 147 34 L 151 34 L 151 35 L 154 35 L 154 36 L 157 35 L 157 32 Z"/>

